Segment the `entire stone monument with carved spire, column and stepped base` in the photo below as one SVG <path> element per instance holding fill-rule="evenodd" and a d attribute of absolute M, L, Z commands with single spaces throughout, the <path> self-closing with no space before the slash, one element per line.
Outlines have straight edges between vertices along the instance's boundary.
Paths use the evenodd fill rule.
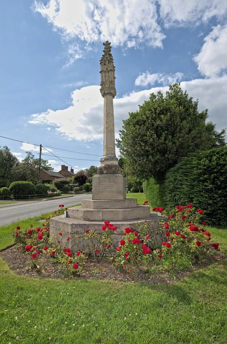
<path fill-rule="evenodd" d="M 92 200 L 83 200 L 81 206 L 68 208 L 65 215 L 50 219 L 50 235 L 58 235 L 62 230 L 62 243 L 72 251 L 86 249 L 85 242 L 77 244 L 76 235 L 82 235 L 87 229 L 101 234 L 104 221 L 111 221 L 117 227 L 112 235 L 112 244 L 115 247 L 119 245 L 126 227 L 138 230 L 138 225 L 144 221 L 151 227 L 150 236 L 155 241 L 161 243 L 163 239 L 157 232 L 160 219 L 165 217 L 150 213 L 150 206 L 137 205 L 134 198 L 126 198 L 125 177 L 121 174 L 115 154 L 115 67 L 110 43 L 107 41 L 104 46 L 104 54 L 100 60 L 100 92 L 104 98 L 103 155 L 97 174 L 92 179 Z M 67 241 L 67 237 L 71 237 L 71 240 Z M 114 254 L 115 248 L 109 253 Z"/>

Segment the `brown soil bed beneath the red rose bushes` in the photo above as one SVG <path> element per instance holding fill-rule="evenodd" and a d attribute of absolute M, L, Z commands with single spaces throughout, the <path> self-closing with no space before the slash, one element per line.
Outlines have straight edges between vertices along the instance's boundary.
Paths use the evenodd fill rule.
<path fill-rule="evenodd" d="M 25 255 L 22 248 L 12 246 L 0 252 L 1 258 L 6 261 L 10 269 L 18 275 L 27 277 L 38 278 L 52 278 L 52 279 L 69 279 L 66 275 L 63 266 L 57 265 L 51 257 L 46 255 L 40 255 L 39 265 L 41 272 L 37 273 L 35 270 L 31 270 L 31 258 L 30 255 Z M 191 269 L 175 272 L 173 274 L 165 272 L 145 273 L 135 267 L 129 267 L 125 272 L 119 272 L 115 270 L 108 258 L 103 259 L 101 262 L 89 261 L 84 267 L 83 273 L 76 279 L 99 279 L 99 280 L 118 280 L 122 282 L 142 282 L 150 284 L 173 284 L 176 281 L 181 280 L 187 276 L 190 272 L 202 269 L 214 262 L 218 262 L 226 258 L 226 255 L 217 250 L 216 255 L 212 257 L 206 257 L 206 260 L 201 260 L 193 265 Z"/>

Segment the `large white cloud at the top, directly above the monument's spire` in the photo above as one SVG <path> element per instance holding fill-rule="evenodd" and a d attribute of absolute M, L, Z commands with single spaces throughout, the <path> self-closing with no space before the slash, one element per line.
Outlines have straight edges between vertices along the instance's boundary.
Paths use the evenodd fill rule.
<path fill-rule="evenodd" d="M 150 0 L 50 0 L 34 2 L 34 11 L 66 38 L 86 43 L 110 40 L 114 46 L 146 43 L 162 47 L 165 35 L 158 24 L 155 1 Z"/>

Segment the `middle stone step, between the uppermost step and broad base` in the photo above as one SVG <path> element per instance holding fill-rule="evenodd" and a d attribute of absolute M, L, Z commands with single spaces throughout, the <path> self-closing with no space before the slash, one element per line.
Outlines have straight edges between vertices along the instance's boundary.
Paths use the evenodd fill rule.
<path fill-rule="evenodd" d="M 88 209 L 82 206 L 68 208 L 66 217 L 85 221 L 121 221 L 150 218 L 150 206 L 138 205 L 125 209 Z"/>

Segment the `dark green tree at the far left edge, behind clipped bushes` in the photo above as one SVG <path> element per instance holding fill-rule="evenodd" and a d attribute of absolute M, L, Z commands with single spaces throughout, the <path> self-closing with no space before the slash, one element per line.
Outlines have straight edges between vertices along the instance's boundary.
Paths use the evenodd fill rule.
<path fill-rule="evenodd" d="M 19 163 L 7 146 L 0 146 L 0 187 L 9 187 L 12 182 L 12 168 Z"/>

